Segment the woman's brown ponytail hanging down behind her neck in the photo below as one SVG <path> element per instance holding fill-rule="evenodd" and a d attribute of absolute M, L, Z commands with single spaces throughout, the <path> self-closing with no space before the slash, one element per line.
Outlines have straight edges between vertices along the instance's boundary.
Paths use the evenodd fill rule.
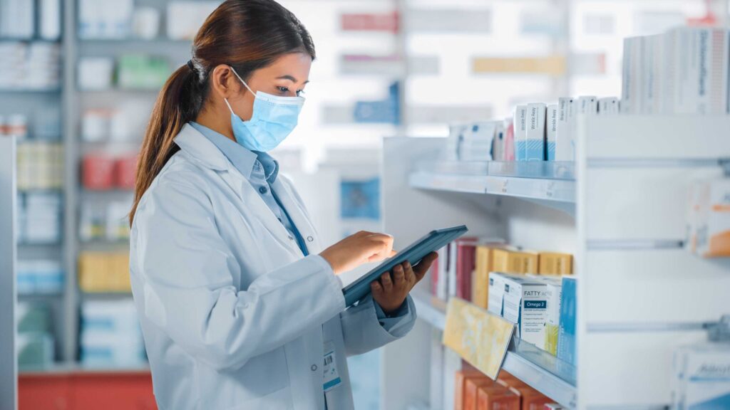
<path fill-rule="evenodd" d="M 173 141 L 175 136 L 185 123 L 198 116 L 202 96 L 196 95 L 197 83 L 196 71 L 191 64 L 187 64 L 172 73 L 157 96 L 137 162 L 134 204 L 129 213 L 130 226 L 142 195 L 172 155 L 180 150 Z"/>

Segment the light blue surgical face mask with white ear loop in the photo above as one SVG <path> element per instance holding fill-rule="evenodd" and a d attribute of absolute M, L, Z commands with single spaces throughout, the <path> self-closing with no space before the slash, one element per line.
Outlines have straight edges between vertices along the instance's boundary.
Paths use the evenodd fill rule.
<path fill-rule="evenodd" d="M 280 97 L 261 91 L 254 93 L 233 67 L 231 71 L 255 95 L 253 115 L 248 121 L 236 115 L 231 104 L 228 104 L 228 99 L 223 99 L 231 110 L 231 127 L 236 141 L 251 151 L 273 150 L 296 127 L 301 106 L 304 105 L 304 97 Z"/>

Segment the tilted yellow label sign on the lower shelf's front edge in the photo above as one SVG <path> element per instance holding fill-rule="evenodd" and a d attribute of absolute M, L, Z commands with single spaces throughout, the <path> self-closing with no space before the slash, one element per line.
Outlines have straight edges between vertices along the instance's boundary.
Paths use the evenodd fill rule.
<path fill-rule="evenodd" d="M 443 343 L 483 374 L 496 379 L 515 325 L 472 303 L 450 298 Z"/>

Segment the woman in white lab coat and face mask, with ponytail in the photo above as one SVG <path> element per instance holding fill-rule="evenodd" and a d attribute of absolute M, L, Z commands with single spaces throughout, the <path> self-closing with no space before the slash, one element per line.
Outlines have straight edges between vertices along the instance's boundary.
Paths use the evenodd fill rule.
<path fill-rule="evenodd" d="M 321 250 L 266 151 L 296 125 L 312 39 L 273 0 L 228 0 L 166 82 L 142 144 L 131 281 L 160 409 L 353 409 L 348 355 L 404 336 L 435 258 L 345 310 L 337 275 L 393 254 L 360 232 Z"/>

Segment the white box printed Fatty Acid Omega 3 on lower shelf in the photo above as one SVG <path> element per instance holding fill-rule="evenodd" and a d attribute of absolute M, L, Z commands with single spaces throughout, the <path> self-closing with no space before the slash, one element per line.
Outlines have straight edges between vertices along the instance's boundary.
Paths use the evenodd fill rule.
<path fill-rule="evenodd" d="M 505 276 L 502 317 L 515 323 L 518 338 L 545 349 L 547 285 L 528 276 Z"/>

